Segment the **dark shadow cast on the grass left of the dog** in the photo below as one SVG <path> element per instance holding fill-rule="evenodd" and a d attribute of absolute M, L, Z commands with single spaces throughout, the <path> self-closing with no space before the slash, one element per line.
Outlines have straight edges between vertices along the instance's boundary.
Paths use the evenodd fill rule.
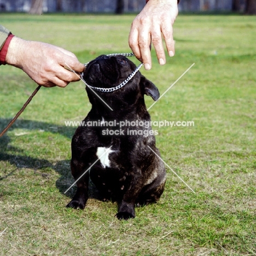
<path fill-rule="evenodd" d="M 9 121 L 9 119 L 0 118 L 0 131 L 7 126 Z M 8 131 L 12 131 L 14 129 L 44 130 L 46 132 L 53 133 L 53 135 L 58 133 L 71 140 L 76 127 L 61 126 L 33 120 L 17 120 Z M 51 162 L 46 159 L 32 158 L 31 156 L 26 155 L 22 149 L 10 146 L 9 143 L 10 137 L 8 136 L 8 133 L 5 133 L 5 135 L 0 138 L 0 161 L 8 162 L 10 165 L 16 166 L 16 168 L 11 168 L 7 174 L 2 177 L 0 176 L 0 181 L 3 181 L 11 175 L 15 175 L 15 172 L 19 168 L 30 168 L 34 169 L 35 171 L 41 171 L 42 175 L 44 174 L 43 172 L 45 169 L 50 168 L 60 174 L 60 178 L 56 181 L 56 188 L 59 189 L 62 194 L 64 194 L 65 191 L 73 184 L 74 178 L 72 177 L 69 167 L 70 160 Z M 76 186 L 74 185 L 72 189 L 70 189 L 65 195 L 72 198 L 75 193 L 75 189 Z M 96 188 L 92 183 L 90 183 L 89 190 L 90 198 L 99 198 Z"/>

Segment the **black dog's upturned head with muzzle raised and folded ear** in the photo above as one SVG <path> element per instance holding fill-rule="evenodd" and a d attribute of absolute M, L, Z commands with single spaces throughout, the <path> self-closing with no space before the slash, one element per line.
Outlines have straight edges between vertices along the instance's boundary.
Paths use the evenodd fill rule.
<path fill-rule="evenodd" d="M 101 55 L 88 63 L 83 79 L 88 85 L 95 88 L 114 88 L 124 82 L 135 69 L 135 64 L 124 56 Z M 86 87 L 86 91 L 92 104 L 95 100 L 98 102 L 97 96 L 90 88 Z M 140 72 L 137 72 L 126 85 L 118 90 L 112 92 L 95 90 L 95 92 L 104 100 L 117 104 L 121 102 L 133 104 L 137 102 L 138 98 L 143 98 L 144 94 L 151 96 L 155 101 L 159 98 L 159 91 L 156 86 Z"/>

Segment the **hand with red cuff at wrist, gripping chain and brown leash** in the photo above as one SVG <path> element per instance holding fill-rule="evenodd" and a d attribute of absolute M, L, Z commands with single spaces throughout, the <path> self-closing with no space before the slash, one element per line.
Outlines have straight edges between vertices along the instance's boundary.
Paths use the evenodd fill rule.
<path fill-rule="evenodd" d="M 84 70 L 84 65 L 70 51 L 18 37 L 11 39 L 5 62 L 21 68 L 34 82 L 45 87 L 65 87 L 78 81 L 79 76 L 66 69 L 67 65 L 76 72 Z"/>

